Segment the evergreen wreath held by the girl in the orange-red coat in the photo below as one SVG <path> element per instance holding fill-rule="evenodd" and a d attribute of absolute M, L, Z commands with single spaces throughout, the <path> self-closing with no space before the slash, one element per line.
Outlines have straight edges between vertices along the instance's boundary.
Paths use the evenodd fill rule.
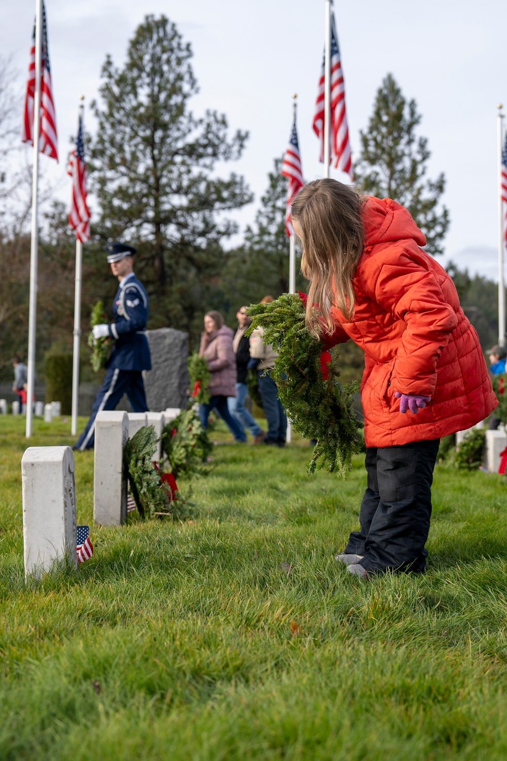
<path fill-rule="evenodd" d="M 353 396 L 359 384 L 338 380 L 339 349 L 331 349 L 328 378 L 322 372 L 325 345 L 306 330 L 305 304 L 296 294 L 283 294 L 271 304 L 253 304 L 247 313 L 252 325 L 264 329 L 264 342 L 278 352 L 271 377 L 278 387 L 280 402 L 295 431 L 306 439 L 316 439 L 309 473 L 326 466 L 344 476 L 353 454 L 364 451 L 363 424 L 353 411 Z"/>

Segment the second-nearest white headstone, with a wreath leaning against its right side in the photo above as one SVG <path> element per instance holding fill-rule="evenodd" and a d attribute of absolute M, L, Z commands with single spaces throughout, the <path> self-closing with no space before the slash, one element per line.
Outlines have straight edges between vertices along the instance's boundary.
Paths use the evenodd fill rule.
<path fill-rule="evenodd" d="M 127 517 L 127 479 L 123 449 L 128 439 L 126 412 L 99 412 L 95 418 L 93 519 L 118 526 Z"/>

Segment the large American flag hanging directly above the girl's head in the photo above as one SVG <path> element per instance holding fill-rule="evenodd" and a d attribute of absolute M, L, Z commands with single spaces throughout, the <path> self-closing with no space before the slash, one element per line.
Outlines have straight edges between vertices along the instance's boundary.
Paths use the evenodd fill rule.
<path fill-rule="evenodd" d="M 325 59 L 322 59 L 321 77 L 318 81 L 318 94 L 315 101 L 315 115 L 313 116 L 313 131 L 320 140 L 321 149 L 319 161 L 324 161 L 324 72 Z M 350 154 L 349 128 L 347 125 L 347 111 L 345 110 L 345 82 L 344 72 L 341 69 L 340 48 L 334 13 L 331 12 L 331 125 L 329 129 L 331 139 L 331 164 L 342 172 L 348 174 L 353 180 L 352 158 Z"/>

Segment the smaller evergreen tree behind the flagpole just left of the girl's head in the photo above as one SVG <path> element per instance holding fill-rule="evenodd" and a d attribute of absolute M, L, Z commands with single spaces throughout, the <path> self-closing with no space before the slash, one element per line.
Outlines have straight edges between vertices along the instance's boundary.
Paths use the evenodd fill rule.
<path fill-rule="evenodd" d="M 282 159 L 275 158 L 255 222 L 246 228 L 243 246 L 230 253 L 223 289 L 231 314 L 236 314 L 241 304 L 255 304 L 268 294 L 277 298 L 289 290 L 289 237 L 285 231 L 288 180 L 280 174 L 281 165 Z M 299 253 L 296 248 L 296 257 Z M 306 290 L 299 258 L 296 288 Z"/>

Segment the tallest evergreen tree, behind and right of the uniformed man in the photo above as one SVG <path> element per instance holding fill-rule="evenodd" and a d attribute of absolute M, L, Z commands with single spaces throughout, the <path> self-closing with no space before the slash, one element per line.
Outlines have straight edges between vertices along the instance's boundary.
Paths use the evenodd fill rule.
<path fill-rule="evenodd" d="M 123 68 L 103 65 L 90 180 L 100 202 L 97 247 L 122 237 L 138 247 L 136 272 L 150 295 L 151 326 L 192 328 L 220 275 L 222 241 L 237 225 L 220 212 L 252 200 L 242 177 L 212 172 L 239 158 L 247 133 L 227 136 L 225 116 L 197 119 L 189 43 L 165 16 L 148 15 L 128 44 Z M 198 314 L 196 314 L 198 313 Z"/>

